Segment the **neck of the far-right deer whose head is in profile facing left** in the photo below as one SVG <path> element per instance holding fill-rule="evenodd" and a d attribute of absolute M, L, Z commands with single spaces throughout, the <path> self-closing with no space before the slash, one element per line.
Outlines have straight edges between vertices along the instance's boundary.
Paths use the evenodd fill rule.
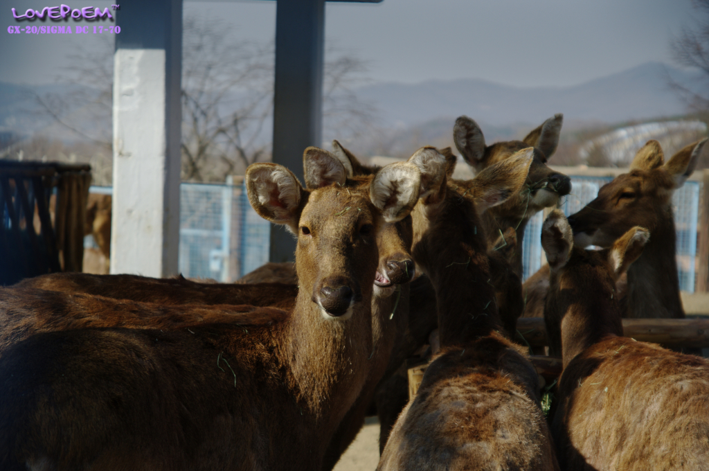
<path fill-rule="evenodd" d="M 675 257 L 674 217 L 668 209 L 627 270 L 627 317 L 684 318 Z"/>

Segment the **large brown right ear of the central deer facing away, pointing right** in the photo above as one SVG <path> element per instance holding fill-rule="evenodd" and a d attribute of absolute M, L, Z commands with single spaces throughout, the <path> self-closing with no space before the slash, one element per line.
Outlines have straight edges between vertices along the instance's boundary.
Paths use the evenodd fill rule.
<path fill-rule="evenodd" d="M 469 194 L 479 214 L 492 206 L 502 204 L 513 194 L 520 192 L 530 165 L 534 160 L 534 148 L 518 150 L 510 158 L 487 167 L 472 180 Z"/>

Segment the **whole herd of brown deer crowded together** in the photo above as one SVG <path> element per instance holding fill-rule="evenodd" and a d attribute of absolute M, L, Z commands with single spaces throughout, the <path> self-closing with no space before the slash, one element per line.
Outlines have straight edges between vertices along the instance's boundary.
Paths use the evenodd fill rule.
<path fill-rule="evenodd" d="M 252 207 L 297 245 L 250 284 L 62 273 L 0 289 L 0 469 L 329 471 L 374 406 L 381 470 L 709 469 L 709 362 L 620 321 L 683 317 L 671 195 L 705 141 L 667 162 L 650 141 L 579 213 L 552 211 L 549 264 L 523 285 L 525 224 L 571 192 L 546 165 L 561 127 L 486 146 L 462 116 L 469 181 L 450 148 L 381 168 L 308 148 L 305 187 L 251 165 Z M 548 423 L 510 340 L 520 316 L 544 316 L 563 359 Z M 403 365 L 435 329 L 409 401 Z"/>

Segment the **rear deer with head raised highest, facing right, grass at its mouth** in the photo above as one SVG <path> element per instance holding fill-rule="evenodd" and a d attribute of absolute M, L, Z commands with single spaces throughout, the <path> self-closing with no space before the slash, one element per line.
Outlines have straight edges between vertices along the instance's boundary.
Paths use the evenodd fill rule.
<path fill-rule="evenodd" d="M 571 192 L 571 179 L 547 167 L 547 159 L 557 150 L 563 121 L 564 115 L 558 113 L 527 134 L 523 140 L 509 140 L 487 146 L 480 127 L 471 118 L 460 116 L 453 127 L 455 146 L 477 172 L 508 159 L 521 149 L 530 146 L 535 148 L 525 188 L 483 215 L 491 244 L 508 227 L 515 228 L 519 244 L 514 251 L 513 269 L 519 277 L 522 276 L 522 240 L 527 222 L 538 211 L 556 205 L 561 196 Z M 468 190 L 466 182 L 453 180 L 452 184 L 459 192 L 465 193 Z"/>

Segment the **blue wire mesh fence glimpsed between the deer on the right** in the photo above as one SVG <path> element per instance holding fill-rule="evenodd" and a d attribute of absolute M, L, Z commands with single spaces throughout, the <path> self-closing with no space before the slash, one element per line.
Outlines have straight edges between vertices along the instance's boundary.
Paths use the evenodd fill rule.
<path fill-rule="evenodd" d="M 613 177 L 572 176 L 571 194 L 564 198 L 561 209 L 566 216 L 576 213 L 596 198 L 598 190 L 610 182 Z M 697 223 L 699 182 L 689 180 L 683 187 L 677 189 L 672 196 L 674 224 L 677 232 L 677 270 L 679 272 L 679 287 L 682 291 L 694 292 L 696 255 L 697 255 Z M 523 279 L 527 279 L 544 265 L 547 260 L 542 249 L 543 212 L 537 213 L 527 223 L 523 241 Z"/>

